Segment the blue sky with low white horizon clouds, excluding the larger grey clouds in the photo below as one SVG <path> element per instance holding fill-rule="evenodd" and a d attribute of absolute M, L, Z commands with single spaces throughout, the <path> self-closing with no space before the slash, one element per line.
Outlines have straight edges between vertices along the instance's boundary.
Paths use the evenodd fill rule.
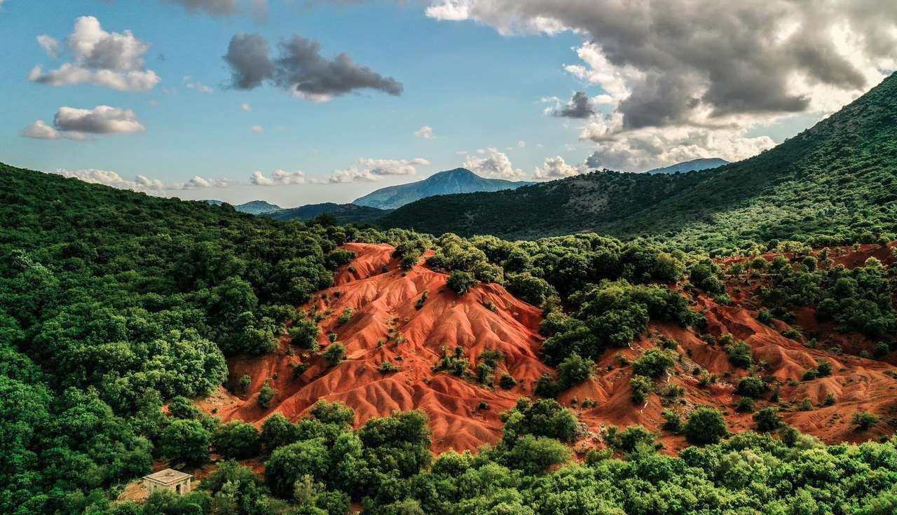
<path fill-rule="evenodd" d="M 624 95 L 604 99 L 605 93 L 614 92 L 606 73 L 613 71 L 618 82 L 634 92 L 638 92 L 635 81 L 643 74 L 631 74 L 619 63 L 610 68 L 605 64 L 607 69 L 601 68 L 600 60 L 596 64 L 589 27 L 567 26 L 564 13 L 549 11 L 564 0 L 548 2 L 544 13 L 516 14 L 531 16 L 529 21 L 524 18 L 527 23 L 543 23 L 544 16 L 553 16 L 565 24 L 563 30 L 532 22 L 520 31 L 509 30 L 509 23 L 519 19 L 501 19 L 501 13 L 509 12 L 501 10 L 501 0 L 337 3 L 342 6 L 269 0 L 266 21 L 249 12 L 249 0 L 239 1 L 241 11 L 212 16 L 188 11 L 180 5 L 187 0 L 0 0 L 0 109 L 5 121 L 0 126 L 0 161 L 35 170 L 68 170 L 83 177 L 88 177 L 84 170 L 104 170 L 126 182 L 138 175 L 165 185 L 184 184 L 196 176 L 219 182 L 230 179 L 226 187 L 151 191 L 184 198 L 214 197 L 234 203 L 261 198 L 284 206 L 348 202 L 375 188 L 464 164 L 483 175 L 531 179 L 536 174 L 553 179 L 587 170 L 587 159 L 590 167 L 618 170 L 645 170 L 684 160 L 680 158 L 713 155 L 740 159 L 808 127 L 871 85 L 852 87 L 841 96 L 832 94 L 824 108 L 794 109 L 766 118 L 753 111 L 739 113 L 741 125 L 734 132 L 701 134 L 694 128 L 701 124 L 686 120 L 675 127 L 649 127 L 658 129 L 652 133 L 642 134 L 648 129 L 641 127 L 632 133 L 611 127 Z M 538 1 L 527 2 L 527 8 L 541 8 Z M 497 11 L 490 12 L 491 8 Z M 130 31 L 149 45 L 141 55 L 142 69 L 152 70 L 161 80 L 148 91 L 30 80 L 36 65 L 46 73 L 74 62 L 74 49 L 66 38 L 82 16 L 95 17 L 102 31 L 125 36 Z M 251 91 L 234 89 L 231 68 L 222 56 L 240 32 L 263 36 L 274 54 L 277 41 L 293 35 L 315 40 L 322 57 L 345 52 L 357 65 L 401 83 L 403 93 L 394 96 L 361 88 L 315 102 L 295 98 L 273 84 Z M 57 40 L 57 58 L 41 48 L 41 35 Z M 876 71 L 881 73 L 881 66 Z M 871 83 L 875 76 L 870 74 Z M 200 91 L 205 88 L 208 92 Z M 546 114 L 546 109 L 562 109 L 574 92 L 586 92 L 594 100 L 585 118 Z M 544 101 L 550 98 L 556 100 Z M 244 104 L 247 109 L 241 107 Z M 52 137 L 24 136 L 33 136 L 26 127 L 36 120 L 54 127 L 61 108 L 97 106 L 130 109 L 133 113 L 127 116 L 141 130 L 83 134 L 50 128 Z M 64 126 L 64 121 L 57 121 L 57 129 Z M 431 127 L 434 137 L 415 135 L 422 127 Z M 605 137 L 611 133 L 613 137 Z M 633 134 L 641 139 L 632 139 Z M 70 139 L 75 136 L 80 139 Z M 669 139 L 675 137 L 679 139 Z M 645 152 L 641 149 L 649 140 L 650 153 L 637 155 Z M 658 150 L 658 145 L 669 148 Z M 546 161 L 556 157 L 560 163 Z M 376 182 L 332 182 L 337 170 L 363 172 L 379 165 L 388 170 L 366 175 Z M 278 169 L 301 170 L 304 183 L 268 188 L 250 184 L 254 171 L 270 177 Z M 389 170 L 414 170 L 414 175 L 393 175 Z M 355 172 L 353 177 L 359 177 Z M 110 183 L 108 176 L 91 177 Z"/>

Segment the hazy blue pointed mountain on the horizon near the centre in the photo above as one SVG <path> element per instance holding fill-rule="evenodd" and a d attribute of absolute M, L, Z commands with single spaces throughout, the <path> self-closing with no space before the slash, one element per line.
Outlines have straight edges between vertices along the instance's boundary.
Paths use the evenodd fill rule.
<path fill-rule="evenodd" d="M 367 205 L 379 209 L 396 209 L 427 196 L 450 195 L 453 193 L 475 193 L 479 191 L 501 191 L 533 184 L 527 181 L 485 179 L 466 168 L 440 171 L 427 179 L 380 188 L 356 199 L 353 204 Z"/>

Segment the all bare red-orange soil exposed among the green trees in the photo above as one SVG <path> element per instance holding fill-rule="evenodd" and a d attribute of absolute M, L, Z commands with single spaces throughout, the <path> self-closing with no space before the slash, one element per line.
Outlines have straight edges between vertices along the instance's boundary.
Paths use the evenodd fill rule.
<path fill-rule="evenodd" d="M 399 269 L 397 260 L 392 258 L 393 248 L 388 245 L 353 243 L 345 249 L 355 252 L 357 258 L 337 271 L 334 287 L 320 292 L 302 307 L 309 314 L 326 315 L 319 324 L 319 344 L 326 349 L 331 345 L 327 335 L 335 333 L 336 340 L 346 347 L 344 362 L 328 368 L 316 355 L 294 352 L 284 338 L 275 354 L 229 362 L 231 385 L 243 374 L 252 378 L 248 396 L 235 397 L 222 391 L 201 406 L 207 411 L 214 408 L 224 420 L 239 418 L 261 424 L 273 413 L 281 413 L 292 421 L 308 416 L 309 408 L 318 399 L 343 401 L 355 410 L 356 426 L 396 410 L 422 409 L 430 417 L 436 452 L 475 450 L 483 443 L 498 441 L 501 412 L 513 406 L 518 397 L 532 395 L 539 376 L 553 373 L 538 360 L 541 310 L 518 301 L 498 284 L 480 284 L 459 296 L 446 288 L 447 275 L 432 271 L 422 261 L 411 270 Z M 869 256 L 891 260 L 889 249 L 879 246 L 867 246 L 856 253 L 848 249 L 844 256 L 835 259 L 855 266 Z M 424 292 L 428 299 L 417 310 L 415 304 Z M 759 373 L 781 381 L 779 404 L 759 400 L 757 409 L 778 406 L 787 423 L 829 443 L 864 441 L 893 432 L 889 427 L 897 420 L 897 374 L 893 366 L 807 348 L 802 342 L 781 336 L 779 331 L 787 325 L 777 321 L 778 327 L 772 328 L 757 321 L 756 311 L 749 309 L 753 308 L 749 295 L 732 297 L 736 304 L 744 301 L 745 306 L 722 306 L 698 295 L 694 299 L 695 309 L 706 314 L 705 333 L 715 337 L 732 334 L 736 340 L 744 340 L 753 347 L 754 362 L 763 363 Z M 353 311 L 353 316 L 340 325 L 338 319 L 346 308 Z M 858 338 L 832 335 L 831 327 L 815 322 L 812 310 L 798 312 L 798 322 L 805 334 L 808 330 L 817 331 L 828 338 L 821 338 L 821 342 L 843 343 Z M 694 406 L 714 406 L 724 412 L 731 431 L 753 428 L 751 415 L 736 413 L 733 408 L 738 399 L 735 385 L 747 372 L 729 364 L 721 345 L 708 344 L 692 329 L 652 324 L 649 334 L 630 348 L 606 351 L 598 362 L 595 377 L 562 394 L 562 403 L 578 413 L 590 432 L 578 442 L 578 451 L 599 445 L 598 435 L 608 424 L 640 423 L 658 434 L 667 434 L 661 431 L 661 413 L 669 406 L 664 406 L 663 397 L 658 395 L 650 396 L 644 406 L 634 406 L 631 367 L 620 362 L 621 356 L 634 361 L 645 350 L 659 345 L 661 337 L 675 339 L 682 357 L 675 372 L 658 380 L 657 387 L 660 390 L 672 384 L 683 388 L 684 403 L 675 405 L 681 413 L 687 414 Z M 495 378 L 507 372 L 518 380 L 518 386 L 511 390 L 487 388 L 447 372 L 432 371 L 443 347 L 451 350 L 456 345 L 464 349 L 472 370 L 484 350 L 500 350 L 505 360 L 495 371 Z M 832 362 L 832 376 L 802 381 L 804 371 L 823 359 Z M 384 361 L 400 366 L 401 371 L 380 372 L 380 363 Z M 293 379 L 292 366 L 300 362 L 308 363 L 309 368 Z M 718 380 L 707 387 L 699 386 L 699 378 L 694 375 L 698 367 L 716 374 Z M 263 410 L 257 404 L 257 394 L 266 380 L 271 381 L 278 395 L 272 406 Z M 835 403 L 823 407 L 823 399 L 830 392 Z M 797 411 L 797 403 L 805 397 L 810 399 L 813 410 Z M 597 406 L 583 409 L 586 399 L 597 401 Z M 488 407 L 480 409 L 481 402 Z M 882 423 L 867 432 L 858 432 L 850 422 L 858 410 L 880 415 Z M 668 452 L 686 445 L 680 436 L 664 436 L 663 441 Z"/>

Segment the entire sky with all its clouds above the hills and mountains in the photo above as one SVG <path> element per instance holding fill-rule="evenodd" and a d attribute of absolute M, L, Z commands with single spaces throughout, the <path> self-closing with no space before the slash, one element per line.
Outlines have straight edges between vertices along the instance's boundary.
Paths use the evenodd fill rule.
<path fill-rule="evenodd" d="M 879 0 L 0 0 L 0 161 L 284 207 L 737 161 L 894 48 Z"/>

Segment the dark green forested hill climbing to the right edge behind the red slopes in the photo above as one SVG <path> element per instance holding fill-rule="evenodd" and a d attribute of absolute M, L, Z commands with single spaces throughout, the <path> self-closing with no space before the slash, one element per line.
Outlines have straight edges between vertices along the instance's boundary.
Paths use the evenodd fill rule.
<path fill-rule="evenodd" d="M 694 249 L 815 244 L 897 233 L 897 76 L 776 148 L 675 176 L 593 172 L 498 193 L 442 196 L 387 226 L 534 238 L 597 231 Z"/>

